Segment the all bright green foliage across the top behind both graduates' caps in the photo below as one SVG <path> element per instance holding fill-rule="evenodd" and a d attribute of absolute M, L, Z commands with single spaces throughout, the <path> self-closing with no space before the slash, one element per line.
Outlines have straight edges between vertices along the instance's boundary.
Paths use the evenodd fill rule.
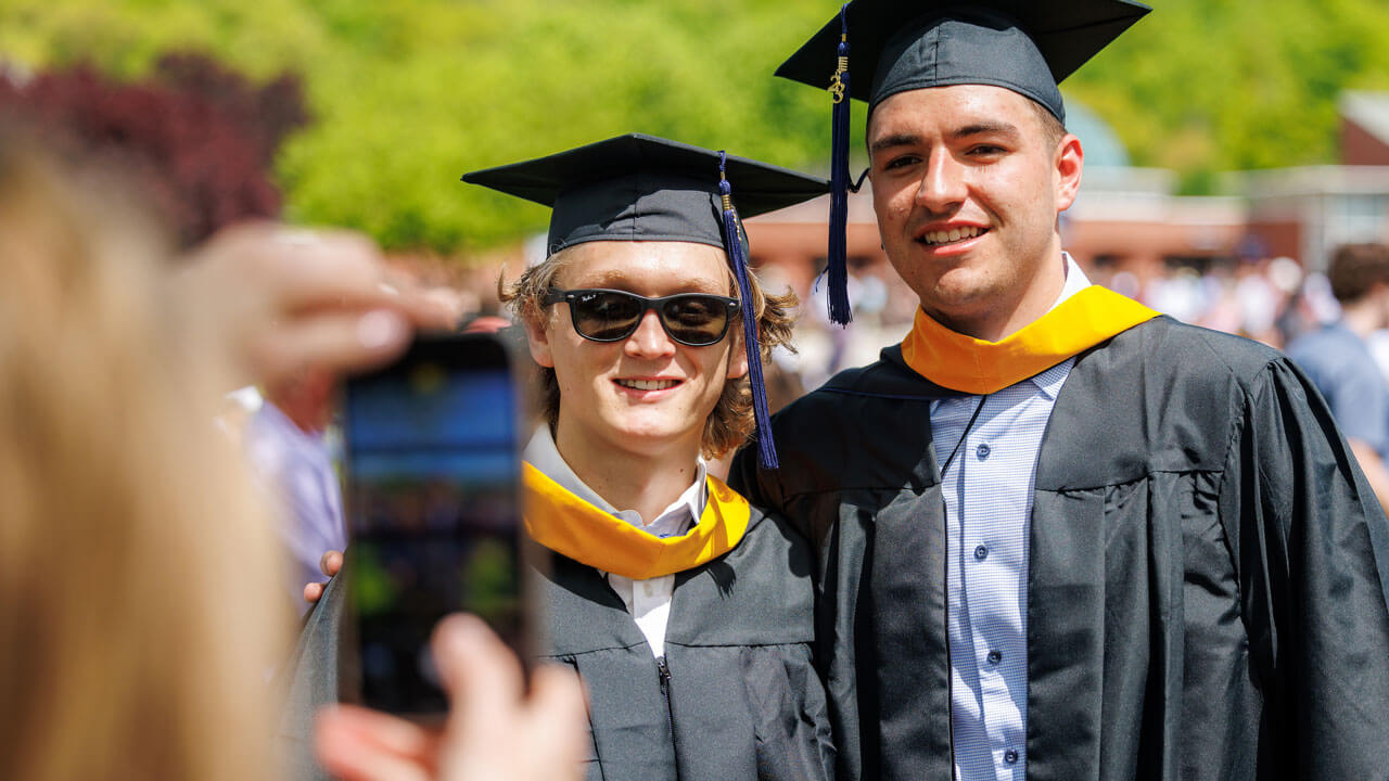
<path fill-rule="evenodd" d="M 1338 93 L 1389 89 L 1383 0 L 1154 3 L 1067 93 L 1114 125 L 1136 164 L 1178 170 L 1190 192 L 1217 171 L 1333 161 Z M 188 49 L 258 78 L 296 69 L 317 121 L 276 161 L 289 217 L 467 252 L 542 229 L 546 210 L 465 186 L 464 171 L 628 131 L 825 171 L 828 100 L 770 74 L 836 7 L 0 0 L 0 51 L 121 76 Z"/>

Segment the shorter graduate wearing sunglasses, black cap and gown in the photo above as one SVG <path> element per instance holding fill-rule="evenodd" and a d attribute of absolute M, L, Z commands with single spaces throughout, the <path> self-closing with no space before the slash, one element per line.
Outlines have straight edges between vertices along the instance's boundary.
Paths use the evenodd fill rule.
<path fill-rule="evenodd" d="M 704 464 L 754 431 L 775 463 L 760 365 L 790 335 L 733 202 L 826 183 L 640 135 L 464 181 L 554 208 L 549 257 L 506 297 L 542 367 L 526 527 L 553 552 L 546 657 L 590 698 L 588 775 L 826 778 L 810 546 Z"/>

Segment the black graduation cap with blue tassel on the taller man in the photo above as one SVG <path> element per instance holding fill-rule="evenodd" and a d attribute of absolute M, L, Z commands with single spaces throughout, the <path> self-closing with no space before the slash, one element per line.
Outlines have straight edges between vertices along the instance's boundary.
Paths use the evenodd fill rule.
<path fill-rule="evenodd" d="M 993 85 L 1045 106 L 1065 121 L 1057 83 L 1104 49 L 1150 8 L 1132 0 L 853 0 L 776 75 L 826 88 L 835 100 L 831 174 L 831 317 L 847 322 L 847 295 L 836 290 L 843 263 L 849 190 L 849 99 L 870 113 L 899 92 L 949 85 Z M 850 81 L 849 57 L 871 64 Z M 840 311 L 836 313 L 836 304 Z M 838 317 L 836 317 L 838 315 Z"/>

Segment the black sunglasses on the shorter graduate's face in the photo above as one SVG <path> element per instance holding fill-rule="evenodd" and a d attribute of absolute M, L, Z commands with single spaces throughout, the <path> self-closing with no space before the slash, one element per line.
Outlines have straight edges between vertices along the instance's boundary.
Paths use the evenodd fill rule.
<path fill-rule="evenodd" d="M 636 332 L 647 310 L 656 310 L 665 334 L 690 347 L 717 345 L 738 313 L 738 299 L 713 293 L 676 293 L 649 299 L 626 290 L 586 288 L 554 290 L 544 295 L 546 304 L 569 304 L 569 318 L 579 336 L 593 342 L 621 342 Z"/>

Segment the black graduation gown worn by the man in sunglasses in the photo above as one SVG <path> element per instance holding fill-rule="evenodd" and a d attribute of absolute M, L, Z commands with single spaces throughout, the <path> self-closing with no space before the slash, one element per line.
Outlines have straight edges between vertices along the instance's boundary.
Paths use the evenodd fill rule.
<path fill-rule="evenodd" d="M 536 584 L 550 635 L 542 659 L 583 678 L 588 778 L 832 778 L 829 716 L 811 653 L 813 567 L 800 534 L 753 509 L 738 548 L 675 575 L 663 680 L 607 579 L 553 554 Z M 344 596 L 336 579 L 329 584 L 290 664 L 282 734 L 297 778 L 326 778 L 311 757 L 311 714 L 338 698 Z"/>

